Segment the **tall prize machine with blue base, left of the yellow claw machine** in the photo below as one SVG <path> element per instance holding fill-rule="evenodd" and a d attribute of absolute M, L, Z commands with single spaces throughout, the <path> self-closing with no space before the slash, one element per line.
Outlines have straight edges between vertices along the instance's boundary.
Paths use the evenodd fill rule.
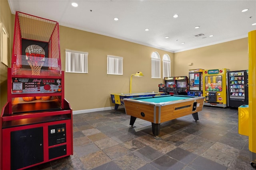
<path fill-rule="evenodd" d="M 188 96 L 202 96 L 203 69 L 189 70 L 188 82 Z"/>

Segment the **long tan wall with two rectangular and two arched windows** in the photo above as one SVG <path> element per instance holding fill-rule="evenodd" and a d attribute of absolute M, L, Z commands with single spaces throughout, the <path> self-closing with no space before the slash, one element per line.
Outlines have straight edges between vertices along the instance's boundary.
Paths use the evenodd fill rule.
<path fill-rule="evenodd" d="M 168 54 L 171 61 L 174 55 L 152 47 L 60 26 L 62 70 L 65 70 L 65 49 L 88 52 L 88 74 L 65 73 L 65 98 L 74 110 L 114 106 L 110 94 L 129 92 L 130 76 L 138 71 L 144 77 L 132 78 L 132 92 L 158 92 L 158 84 L 164 81 L 162 78 L 151 78 L 151 54 L 157 51 L 161 59 L 164 54 Z M 107 74 L 107 55 L 123 57 L 123 75 Z"/>

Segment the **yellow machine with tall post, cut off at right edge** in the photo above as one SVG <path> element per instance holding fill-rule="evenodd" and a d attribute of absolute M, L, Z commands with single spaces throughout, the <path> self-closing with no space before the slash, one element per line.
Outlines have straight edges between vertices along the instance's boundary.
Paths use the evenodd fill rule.
<path fill-rule="evenodd" d="M 248 105 L 238 107 L 238 133 L 249 137 L 251 166 L 256 168 L 256 30 L 248 33 Z"/>

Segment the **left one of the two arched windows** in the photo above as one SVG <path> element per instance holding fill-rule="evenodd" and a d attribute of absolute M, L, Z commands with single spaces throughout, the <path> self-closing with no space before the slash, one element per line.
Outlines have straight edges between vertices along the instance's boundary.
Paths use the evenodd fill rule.
<path fill-rule="evenodd" d="M 151 55 L 151 78 L 160 78 L 160 55 L 153 52 Z"/>

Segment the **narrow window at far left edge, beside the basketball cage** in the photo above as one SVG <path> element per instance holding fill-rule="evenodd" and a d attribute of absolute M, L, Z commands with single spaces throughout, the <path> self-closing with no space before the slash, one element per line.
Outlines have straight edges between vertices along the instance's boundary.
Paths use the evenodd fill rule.
<path fill-rule="evenodd" d="M 2 23 L 0 23 L 1 30 L 1 62 L 8 66 L 8 33 Z"/>

